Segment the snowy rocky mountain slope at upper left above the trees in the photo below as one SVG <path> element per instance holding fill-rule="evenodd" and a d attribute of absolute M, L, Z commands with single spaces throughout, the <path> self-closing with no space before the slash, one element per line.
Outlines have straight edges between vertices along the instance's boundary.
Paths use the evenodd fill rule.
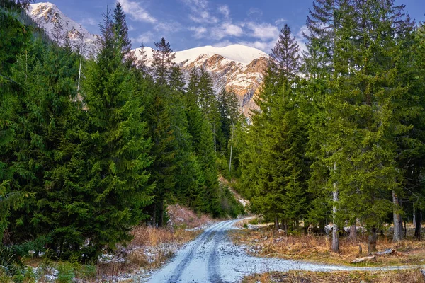
<path fill-rule="evenodd" d="M 28 15 L 40 28 L 45 30 L 52 40 L 56 40 L 60 45 L 64 44 L 65 37 L 68 35 L 74 48 L 82 45 L 84 54 L 94 53 L 98 35 L 92 35 L 82 25 L 72 21 L 55 4 L 50 2 L 30 4 Z M 59 24 L 56 24 L 55 27 L 55 23 Z M 62 27 L 58 28 L 61 25 Z"/>

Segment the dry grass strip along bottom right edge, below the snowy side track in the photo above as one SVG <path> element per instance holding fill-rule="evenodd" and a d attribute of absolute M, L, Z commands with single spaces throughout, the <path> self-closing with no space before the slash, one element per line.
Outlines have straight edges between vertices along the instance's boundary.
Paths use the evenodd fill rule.
<path fill-rule="evenodd" d="M 268 272 L 260 275 L 251 275 L 245 277 L 244 283 L 272 283 L 272 282 L 290 282 L 290 283 L 419 283 L 424 282 L 424 276 L 421 270 L 397 270 L 397 271 L 373 271 L 373 272 L 309 272 L 309 271 L 289 271 L 289 272 Z"/>

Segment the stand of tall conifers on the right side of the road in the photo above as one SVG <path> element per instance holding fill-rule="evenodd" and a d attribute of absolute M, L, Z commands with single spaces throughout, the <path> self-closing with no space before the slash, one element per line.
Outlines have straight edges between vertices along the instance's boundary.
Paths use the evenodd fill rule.
<path fill-rule="evenodd" d="M 334 252 L 344 226 L 354 242 L 367 231 L 369 253 L 386 224 L 400 241 L 414 219 L 420 239 L 424 25 L 395 1 L 316 0 L 307 28 L 305 52 L 286 25 L 271 52 L 240 190 L 276 229 L 331 224 Z"/>

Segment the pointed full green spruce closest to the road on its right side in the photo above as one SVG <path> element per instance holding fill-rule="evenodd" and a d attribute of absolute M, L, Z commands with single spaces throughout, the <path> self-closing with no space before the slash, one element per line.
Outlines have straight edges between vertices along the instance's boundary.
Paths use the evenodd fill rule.
<path fill-rule="evenodd" d="M 304 131 L 298 118 L 297 90 L 293 83 L 297 73 L 294 68 L 299 65 L 298 47 L 293 47 L 294 52 L 277 51 L 293 42 L 288 30 L 288 26 L 282 30 L 280 40 L 273 48 L 271 67 L 256 101 L 260 111 L 254 112 L 253 125 L 246 137 L 249 144 L 247 149 L 254 151 L 258 158 L 245 154 L 243 158 L 251 159 L 252 163 L 243 161 L 250 167 L 242 171 L 242 178 L 252 178 L 254 181 L 251 185 L 254 195 L 252 204 L 269 219 L 274 219 L 276 229 L 279 219 L 282 219 L 285 230 L 290 221 L 297 225 L 300 218 L 305 216 L 307 186 L 303 158 L 305 135 L 302 134 Z M 287 65 L 294 67 L 292 74 L 286 69 Z M 254 174 L 248 171 L 254 171 Z"/>

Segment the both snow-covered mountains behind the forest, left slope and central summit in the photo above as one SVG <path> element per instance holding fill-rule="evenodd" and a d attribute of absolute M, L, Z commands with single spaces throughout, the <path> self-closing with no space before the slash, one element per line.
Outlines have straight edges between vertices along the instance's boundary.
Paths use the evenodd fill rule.
<path fill-rule="evenodd" d="M 55 4 L 30 4 L 28 15 L 60 45 L 64 44 L 64 36 L 58 36 L 55 23 L 62 25 L 62 35 L 68 33 L 72 46 L 78 47 L 84 42 L 84 54 L 95 54 L 98 35 L 92 35 L 82 25 L 72 21 Z M 135 49 L 136 56 L 139 55 L 138 50 Z M 148 59 L 152 59 L 152 48 L 145 47 L 145 51 Z M 258 108 L 254 98 L 263 83 L 267 58 L 268 55 L 261 50 L 244 45 L 204 46 L 176 52 L 175 62 L 181 66 L 186 78 L 194 67 L 205 67 L 212 76 L 215 91 L 218 93 L 222 88 L 233 88 L 241 112 L 249 116 L 250 109 Z"/>

